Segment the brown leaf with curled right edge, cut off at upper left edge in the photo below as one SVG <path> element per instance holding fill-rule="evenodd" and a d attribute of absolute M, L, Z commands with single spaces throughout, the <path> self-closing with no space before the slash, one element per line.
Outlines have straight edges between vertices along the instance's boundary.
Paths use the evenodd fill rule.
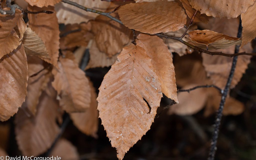
<path fill-rule="evenodd" d="M 10 10 L 10 8 L 4 8 Z M 27 25 L 22 19 L 23 13 L 15 10 L 15 15 L 0 14 L 0 58 L 16 49 L 23 38 Z"/>

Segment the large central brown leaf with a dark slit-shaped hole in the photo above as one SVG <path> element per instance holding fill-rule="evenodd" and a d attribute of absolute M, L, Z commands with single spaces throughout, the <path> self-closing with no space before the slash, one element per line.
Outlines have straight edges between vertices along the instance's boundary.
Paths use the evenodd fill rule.
<path fill-rule="evenodd" d="M 154 121 L 162 97 L 154 70 L 147 52 L 132 44 L 123 48 L 99 88 L 99 117 L 119 159 Z"/>

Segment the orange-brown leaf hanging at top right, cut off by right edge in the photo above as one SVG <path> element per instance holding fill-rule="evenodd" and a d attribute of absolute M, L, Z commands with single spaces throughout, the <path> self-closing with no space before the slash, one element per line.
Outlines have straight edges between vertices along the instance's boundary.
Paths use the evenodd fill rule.
<path fill-rule="evenodd" d="M 240 48 L 242 48 L 245 44 L 256 37 L 256 29 L 253 25 L 256 22 L 256 3 L 249 7 L 245 13 L 241 14 L 241 19 L 243 26 L 243 36 Z"/>

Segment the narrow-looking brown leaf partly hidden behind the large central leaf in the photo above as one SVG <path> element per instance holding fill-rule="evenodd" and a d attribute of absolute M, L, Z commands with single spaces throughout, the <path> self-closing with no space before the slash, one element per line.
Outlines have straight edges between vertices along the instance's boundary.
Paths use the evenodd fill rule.
<path fill-rule="evenodd" d="M 139 34 L 136 43 L 146 50 L 161 83 L 162 92 L 166 97 L 179 103 L 173 66 L 172 54 L 164 41 L 157 36 Z M 150 79 L 146 79 L 149 81 Z"/>

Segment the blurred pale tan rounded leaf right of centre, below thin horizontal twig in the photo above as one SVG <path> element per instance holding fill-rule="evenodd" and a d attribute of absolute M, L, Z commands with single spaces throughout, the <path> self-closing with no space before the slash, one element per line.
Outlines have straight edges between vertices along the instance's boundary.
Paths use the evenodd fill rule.
<path fill-rule="evenodd" d="M 182 89 L 190 89 L 198 86 L 197 84 L 190 84 Z M 178 115 L 191 115 L 200 111 L 207 101 L 207 89 L 198 88 L 196 90 L 188 92 L 178 93 L 179 104 L 174 104 L 170 107 L 169 114 Z"/>

